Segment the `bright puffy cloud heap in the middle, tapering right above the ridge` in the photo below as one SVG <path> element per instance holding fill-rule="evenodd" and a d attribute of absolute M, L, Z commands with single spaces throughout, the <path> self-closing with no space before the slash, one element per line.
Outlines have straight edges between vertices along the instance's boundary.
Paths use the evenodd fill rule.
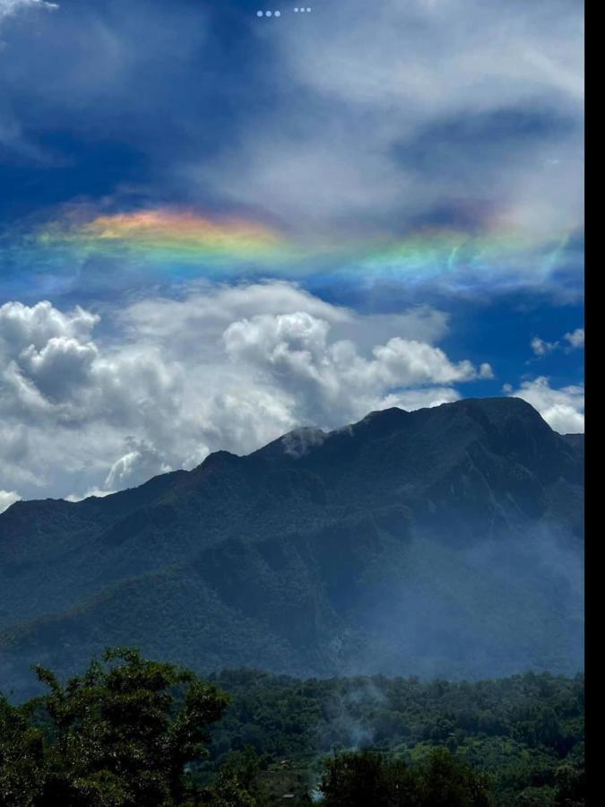
<path fill-rule="evenodd" d="M 359 354 L 350 340 L 332 342 L 328 322 L 299 311 L 258 315 L 229 325 L 222 337 L 229 359 L 255 368 L 291 396 L 298 421 L 330 423 L 331 412 L 350 417 L 381 408 L 385 395 L 489 376 L 470 361 L 453 363 L 428 343 L 394 336 Z M 335 425 L 333 423 L 333 425 Z"/>

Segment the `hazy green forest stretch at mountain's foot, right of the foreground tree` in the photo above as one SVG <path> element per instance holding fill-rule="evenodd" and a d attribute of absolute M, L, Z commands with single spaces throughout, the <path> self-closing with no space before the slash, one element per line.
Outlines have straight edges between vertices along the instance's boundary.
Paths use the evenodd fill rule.
<path fill-rule="evenodd" d="M 528 672 L 474 683 L 384 676 L 298 681 L 240 670 L 211 680 L 231 695 L 212 729 L 208 765 L 214 768 L 246 744 L 309 771 L 333 749 L 373 749 L 416 767 L 445 747 L 491 777 L 499 807 L 583 803 L 580 675 Z"/>

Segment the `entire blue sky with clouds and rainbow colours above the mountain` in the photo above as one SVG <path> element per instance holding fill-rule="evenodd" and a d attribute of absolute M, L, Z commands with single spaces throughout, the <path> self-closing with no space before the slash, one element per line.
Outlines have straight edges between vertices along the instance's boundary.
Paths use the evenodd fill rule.
<path fill-rule="evenodd" d="M 582 4 L 309 2 L 0 0 L 0 511 L 389 406 L 583 432 Z"/>

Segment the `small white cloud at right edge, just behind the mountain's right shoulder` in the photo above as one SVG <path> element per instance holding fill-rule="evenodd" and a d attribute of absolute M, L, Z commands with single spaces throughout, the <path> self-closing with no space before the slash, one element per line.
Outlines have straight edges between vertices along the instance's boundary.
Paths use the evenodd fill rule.
<path fill-rule="evenodd" d="M 540 376 L 533 381 L 523 381 L 517 390 L 506 386 L 505 392 L 507 395 L 523 398 L 523 401 L 532 404 L 550 428 L 560 434 L 583 433 L 583 386 L 564 386 L 561 389 L 553 389 L 549 385 L 549 379 Z"/>

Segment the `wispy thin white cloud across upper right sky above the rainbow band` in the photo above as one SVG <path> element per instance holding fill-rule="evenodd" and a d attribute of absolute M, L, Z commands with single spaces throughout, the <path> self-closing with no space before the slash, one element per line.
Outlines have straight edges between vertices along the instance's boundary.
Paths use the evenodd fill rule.
<path fill-rule="evenodd" d="M 306 21 L 307 22 L 307 21 Z M 475 0 L 350 0 L 267 34 L 276 103 L 212 161 L 177 169 L 303 232 L 413 230 L 468 213 L 549 253 L 583 221 L 583 15 Z M 563 156 L 561 156 L 563 155 Z M 352 226 L 351 226 L 352 225 Z M 502 273 L 536 282 L 527 255 Z M 497 272 L 480 260 L 482 275 Z M 523 264 L 523 266 L 522 266 Z M 539 282 L 543 280 L 540 274 Z"/>

